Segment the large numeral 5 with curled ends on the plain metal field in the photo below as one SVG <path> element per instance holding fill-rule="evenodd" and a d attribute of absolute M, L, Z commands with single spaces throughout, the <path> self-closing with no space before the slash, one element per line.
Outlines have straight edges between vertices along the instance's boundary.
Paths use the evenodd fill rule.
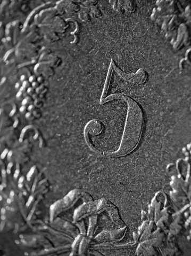
<path fill-rule="evenodd" d="M 88 147 L 94 152 L 101 154 L 103 156 L 109 157 L 122 157 L 126 156 L 130 152 L 134 151 L 140 141 L 140 137 L 143 131 L 143 112 L 140 106 L 137 104 L 135 99 L 132 99 L 130 96 L 125 94 L 111 94 L 107 96 L 107 91 L 110 87 L 111 77 L 113 71 L 117 72 L 117 74 L 125 81 L 129 81 L 131 83 L 142 84 L 146 81 L 147 73 L 144 69 L 140 68 L 134 74 L 126 74 L 122 72 L 117 66 L 115 66 L 113 60 L 111 59 L 111 63 L 107 72 L 104 88 L 102 91 L 102 96 L 100 98 L 99 103 L 104 105 L 105 103 L 112 102 L 113 100 L 122 100 L 127 103 L 127 116 L 126 121 L 124 123 L 123 134 L 121 137 L 121 142 L 119 148 L 116 151 L 103 151 L 101 149 L 97 149 L 90 139 L 90 136 L 99 135 L 102 132 L 103 124 L 99 120 L 91 120 L 89 121 L 84 128 L 84 138 L 88 145 Z"/>

